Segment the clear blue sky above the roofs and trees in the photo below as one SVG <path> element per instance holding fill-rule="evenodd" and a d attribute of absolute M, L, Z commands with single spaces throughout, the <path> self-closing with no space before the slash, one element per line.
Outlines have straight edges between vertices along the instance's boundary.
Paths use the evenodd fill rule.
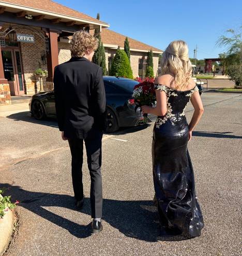
<path fill-rule="evenodd" d="M 198 59 L 218 57 L 224 48 L 216 41 L 226 29 L 242 25 L 242 0 L 55 0 L 108 22 L 110 29 L 164 50 L 185 40 L 190 57 L 198 45 Z"/>

